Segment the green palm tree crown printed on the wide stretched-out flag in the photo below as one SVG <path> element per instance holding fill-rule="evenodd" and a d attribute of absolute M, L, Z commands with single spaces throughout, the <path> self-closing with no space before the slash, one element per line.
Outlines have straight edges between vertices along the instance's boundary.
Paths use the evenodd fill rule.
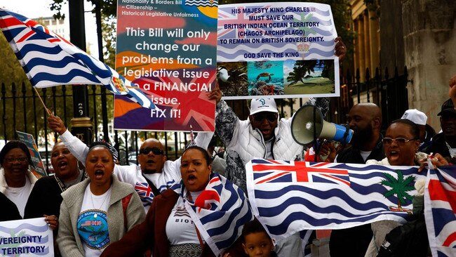
<path fill-rule="evenodd" d="M 413 196 L 409 195 L 407 192 L 415 190 L 415 187 L 413 186 L 415 178 L 413 176 L 404 178 L 401 171 L 396 171 L 396 173 L 397 178 L 394 178 L 394 176 L 391 176 L 389 173 L 384 173 L 384 176 L 387 177 L 387 179 L 382 180 L 380 183 L 391 187 L 391 190 L 384 193 L 384 197 L 396 195 L 398 198 L 398 207 L 401 208 L 401 205 L 405 204 L 407 199 L 413 199 Z"/>

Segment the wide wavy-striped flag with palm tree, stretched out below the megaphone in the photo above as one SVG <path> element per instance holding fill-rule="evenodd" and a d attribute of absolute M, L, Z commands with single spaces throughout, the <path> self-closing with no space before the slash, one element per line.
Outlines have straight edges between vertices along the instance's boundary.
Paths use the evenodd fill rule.
<path fill-rule="evenodd" d="M 302 230 L 341 229 L 396 220 L 412 211 L 416 167 L 285 162 L 255 159 L 246 165 L 255 216 L 279 241 Z M 394 190 L 401 190 L 399 197 Z M 398 203 L 401 203 L 399 207 Z"/>

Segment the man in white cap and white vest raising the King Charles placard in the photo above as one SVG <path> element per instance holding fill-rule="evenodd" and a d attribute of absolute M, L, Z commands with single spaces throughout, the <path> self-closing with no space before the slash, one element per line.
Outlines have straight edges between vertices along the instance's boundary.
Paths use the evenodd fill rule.
<path fill-rule="evenodd" d="M 246 164 L 252 159 L 302 160 L 304 147 L 295 142 L 291 133 L 292 118 L 280 119 L 273 98 L 253 99 L 248 119 L 241 121 L 231 107 L 222 100 L 218 87 L 209 98 L 217 103 L 215 131 L 227 148 L 225 174 L 232 183 L 247 192 Z M 307 105 L 316 105 L 318 111 L 328 112 L 328 98 L 311 98 Z"/>

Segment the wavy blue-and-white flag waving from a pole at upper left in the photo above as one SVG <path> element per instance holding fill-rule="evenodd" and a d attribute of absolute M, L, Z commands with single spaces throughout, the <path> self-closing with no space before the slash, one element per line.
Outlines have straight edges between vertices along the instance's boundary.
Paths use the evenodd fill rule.
<path fill-rule="evenodd" d="M 0 8 L 0 27 L 32 86 L 103 85 L 116 95 L 156 109 L 141 88 L 38 22 Z"/>

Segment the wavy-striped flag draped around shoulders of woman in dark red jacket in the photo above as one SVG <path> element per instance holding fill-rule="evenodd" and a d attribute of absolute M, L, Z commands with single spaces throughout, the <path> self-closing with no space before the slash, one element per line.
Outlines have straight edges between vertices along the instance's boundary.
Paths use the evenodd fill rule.
<path fill-rule="evenodd" d="M 217 173 L 210 175 L 206 189 L 194 201 L 187 199 L 182 183 L 175 192 L 185 199 L 185 209 L 215 256 L 231 246 L 243 225 L 253 219 L 244 192 Z"/>

